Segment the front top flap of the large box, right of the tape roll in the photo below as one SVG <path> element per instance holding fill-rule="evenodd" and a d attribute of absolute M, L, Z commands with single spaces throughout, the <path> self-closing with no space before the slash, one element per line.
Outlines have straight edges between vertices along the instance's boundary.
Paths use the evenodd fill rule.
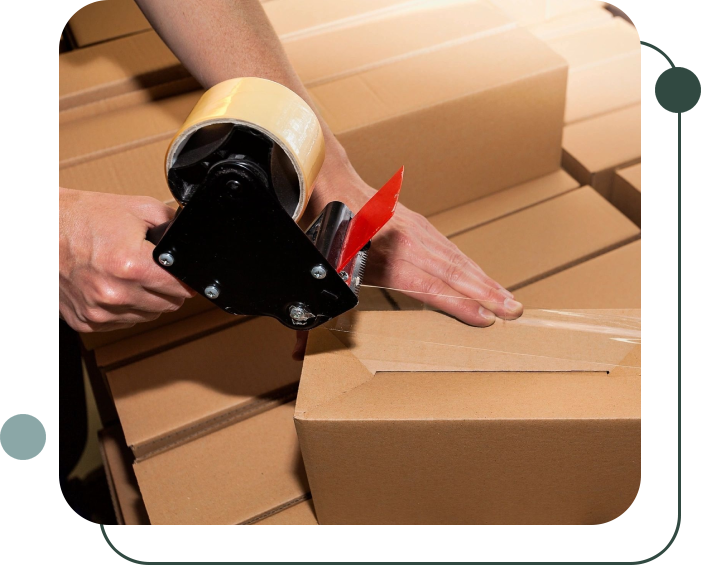
<path fill-rule="evenodd" d="M 340 135 L 565 67 L 544 43 L 516 29 L 361 72 L 310 94 Z"/>

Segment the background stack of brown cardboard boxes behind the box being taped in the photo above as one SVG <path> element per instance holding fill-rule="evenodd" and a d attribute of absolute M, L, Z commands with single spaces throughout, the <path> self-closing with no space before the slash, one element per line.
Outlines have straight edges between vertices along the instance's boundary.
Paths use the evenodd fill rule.
<path fill-rule="evenodd" d="M 635 28 L 600 4 L 270 0 L 264 7 L 369 184 L 405 165 L 403 202 L 527 308 L 639 308 L 640 44 Z M 163 158 L 201 87 L 132 0 L 91 7 L 68 24 L 81 48 L 59 57 L 59 184 L 172 205 Z M 371 289 L 361 304 L 398 308 Z M 103 420 L 116 425 L 102 443 L 124 523 L 146 521 L 139 491 L 153 524 L 316 523 L 293 422 L 302 366 L 291 358 L 292 332 L 271 320 L 231 318 L 198 298 L 157 322 L 83 341 L 96 394 L 103 391 Z M 305 374 L 318 370 L 317 356 L 307 363 Z M 634 397 L 630 379 L 625 390 Z M 591 394 L 597 386 L 605 385 L 592 384 Z M 631 402 L 625 414 L 634 439 Z M 314 429 L 305 432 L 309 446 Z M 324 522 L 366 519 L 334 510 L 346 506 L 329 501 L 333 474 L 319 476 L 316 448 L 308 455 Z M 377 523 L 392 523 L 397 504 Z M 441 522 L 429 506 L 427 521 L 469 519 L 448 514 Z M 405 510 L 394 518 L 411 522 Z M 519 516 L 527 521 L 508 512 L 502 519 Z"/>

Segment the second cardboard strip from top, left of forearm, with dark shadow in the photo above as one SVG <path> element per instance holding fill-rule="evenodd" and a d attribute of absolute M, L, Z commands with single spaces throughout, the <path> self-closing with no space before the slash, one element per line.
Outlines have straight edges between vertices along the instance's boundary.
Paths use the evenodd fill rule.
<path fill-rule="evenodd" d="M 188 76 L 155 32 L 77 49 L 58 59 L 58 111 Z"/>

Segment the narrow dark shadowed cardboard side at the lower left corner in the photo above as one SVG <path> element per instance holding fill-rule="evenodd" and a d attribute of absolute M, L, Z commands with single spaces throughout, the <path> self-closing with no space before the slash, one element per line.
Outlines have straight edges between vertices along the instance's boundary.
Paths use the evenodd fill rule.
<path fill-rule="evenodd" d="M 148 526 L 148 514 L 131 464 L 133 456 L 124 436 L 119 428 L 109 428 L 100 432 L 99 442 L 117 522 L 121 526 Z"/>

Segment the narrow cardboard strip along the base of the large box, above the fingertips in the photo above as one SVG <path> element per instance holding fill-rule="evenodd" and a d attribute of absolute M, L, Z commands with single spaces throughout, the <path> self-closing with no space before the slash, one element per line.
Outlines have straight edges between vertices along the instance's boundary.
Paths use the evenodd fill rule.
<path fill-rule="evenodd" d="M 579 187 L 576 180 L 561 170 L 436 214 L 428 219 L 444 236 L 451 237 L 530 208 Z"/>

